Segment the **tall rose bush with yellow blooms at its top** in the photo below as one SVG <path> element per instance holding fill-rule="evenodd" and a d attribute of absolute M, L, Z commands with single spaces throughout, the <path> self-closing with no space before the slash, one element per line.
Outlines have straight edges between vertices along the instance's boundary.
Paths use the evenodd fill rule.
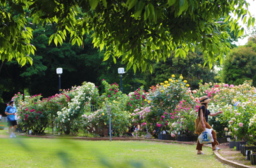
<path fill-rule="evenodd" d="M 151 87 L 152 89 L 148 90 L 149 93 L 145 99 L 150 108 L 142 109 L 136 113 L 135 120 L 143 126 L 147 125 L 150 132 L 154 132 L 155 137 L 162 130 L 170 130 L 170 127 L 167 127 L 168 122 L 176 121 L 179 118 L 177 111 L 175 111 L 178 104 L 191 101 L 188 92 L 189 85 L 186 80 L 182 80 L 182 75 L 176 79 L 173 74 L 168 81 Z"/>

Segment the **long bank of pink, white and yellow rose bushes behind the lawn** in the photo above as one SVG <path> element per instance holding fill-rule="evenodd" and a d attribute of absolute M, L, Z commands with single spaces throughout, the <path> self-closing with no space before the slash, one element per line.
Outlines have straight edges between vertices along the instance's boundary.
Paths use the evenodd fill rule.
<path fill-rule="evenodd" d="M 15 94 L 12 100 L 17 106 L 18 128 L 35 136 L 108 138 L 107 106 L 111 106 L 113 139 L 144 139 L 150 134 L 150 139 L 196 141 L 199 97 L 207 95 L 212 100 L 208 108 L 211 113 L 224 112 L 209 118 L 218 141 L 227 143 L 229 138 L 230 148 L 244 155 L 246 150 L 256 150 L 256 90 L 252 81 L 237 86 L 200 83 L 199 89 L 191 90 L 182 74 L 173 74 L 150 90 L 140 87 L 129 94 L 122 94 L 116 83 L 102 80 L 102 84 L 102 95 L 90 82 L 47 98 Z"/>

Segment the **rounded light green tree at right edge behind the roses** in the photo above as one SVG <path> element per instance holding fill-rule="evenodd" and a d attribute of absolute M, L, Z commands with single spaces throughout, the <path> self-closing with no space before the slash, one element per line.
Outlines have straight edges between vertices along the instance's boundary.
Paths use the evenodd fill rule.
<path fill-rule="evenodd" d="M 256 86 L 256 37 L 249 38 L 244 46 L 232 49 L 232 53 L 223 62 L 221 81 L 228 84 L 243 84 L 244 80 L 253 80 Z"/>

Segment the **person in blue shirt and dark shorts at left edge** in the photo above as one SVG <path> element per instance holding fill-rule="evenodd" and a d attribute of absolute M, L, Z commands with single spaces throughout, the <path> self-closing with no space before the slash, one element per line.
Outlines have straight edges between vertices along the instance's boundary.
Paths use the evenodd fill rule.
<path fill-rule="evenodd" d="M 7 121 L 8 121 L 8 126 L 9 126 L 9 133 L 11 134 L 10 137 L 16 137 L 14 132 L 15 129 L 17 128 L 17 121 L 15 120 L 15 115 L 17 113 L 17 109 L 15 107 L 15 102 L 10 101 L 10 105 L 7 106 L 5 109 L 5 114 L 7 115 Z M 12 130 L 13 127 L 13 130 Z"/>

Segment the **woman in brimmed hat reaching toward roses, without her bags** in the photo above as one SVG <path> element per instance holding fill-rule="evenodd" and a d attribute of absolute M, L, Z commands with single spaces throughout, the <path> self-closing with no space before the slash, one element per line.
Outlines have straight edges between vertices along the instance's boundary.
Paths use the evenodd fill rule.
<path fill-rule="evenodd" d="M 210 101 L 211 101 L 211 99 L 209 99 L 207 96 L 200 97 L 201 106 L 198 109 L 198 116 L 200 116 L 200 120 L 202 122 L 202 127 L 205 127 L 207 129 L 212 129 L 211 125 L 209 125 L 209 123 L 207 123 L 208 122 L 208 116 L 216 116 L 218 114 L 223 113 L 223 111 L 219 111 L 218 113 L 211 113 L 207 109 L 208 104 L 209 104 Z M 206 122 L 204 122 L 204 117 L 205 117 Z M 212 150 L 220 150 L 220 148 L 216 147 L 216 145 L 218 145 L 219 143 L 217 141 L 216 132 L 214 130 L 212 130 L 212 138 L 214 140 L 214 142 L 212 143 Z M 204 155 L 204 153 L 202 152 L 203 145 L 204 144 L 200 144 L 199 140 L 197 140 L 196 150 L 197 150 L 198 155 L 200 155 L 200 154 Z"/>

